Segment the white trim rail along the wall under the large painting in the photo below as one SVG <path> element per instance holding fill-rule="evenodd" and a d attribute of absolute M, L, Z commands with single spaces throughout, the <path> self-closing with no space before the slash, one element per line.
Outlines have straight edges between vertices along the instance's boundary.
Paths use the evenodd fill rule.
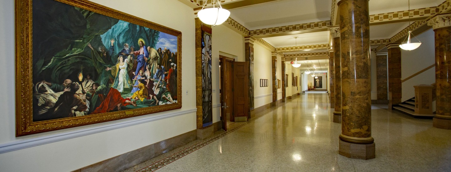
<path fill-rule="evenodd" d="M 30 148 L 30 147 L 34 147 L 34 146 L 38 146 L 38 145 L 45 145 L 45 144 L 53 143 L 53 142 L 57 142 L 57 141 L 73 139 L 76 137 L 96 134 L 96 133 L 103 132 L 103 131 L 110 131 L 110 130 L 115 130 L 115 129 L 119 129 L 119 128 L 123 128 L 123 127 L 134 126 L 134 125 L 138 125 L 138 124 L 142 124 L 142 123 L 146 123 L 146 122 L 157 121 L 160 119 L 171 118 L 171 117 L 184 115 L 184 114 L 188 114 L 188 113 L 195 113 L 196 111 L 197 111 L 197 109 L 188 109 L 188 110 L 184 110 L 184 111 L 152 115 L 152 116 L 145 117 L 145 118 L 139 118 L 139 119 L 133 119 L 130 121 L 123 121 L 123 122 L 107 124 L 104 126 L 85 128 L 85 129 L 81 129 L 81 130 L 69 131 L 69 132 L 64 132 L 64 133 L 59 133 L 59 134 L 54 134 L 54 135 L 49 135 L 49 136 L 42 136 L 42 137 L 26 139 L 26 140 L 12 141 L 9 143 L 0 144 L 0 154 L 15 151 L 15 150 L 20 150 L 20 149 Z"/>

